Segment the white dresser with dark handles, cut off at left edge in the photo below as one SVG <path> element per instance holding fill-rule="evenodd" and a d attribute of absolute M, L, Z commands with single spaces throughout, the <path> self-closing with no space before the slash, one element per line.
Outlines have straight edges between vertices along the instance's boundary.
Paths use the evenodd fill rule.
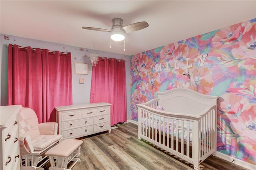
<path fill-rule="evenodd" d="M 22 106 L 0 106 L 0 170 L 20 169 L 18 112 Z"/>

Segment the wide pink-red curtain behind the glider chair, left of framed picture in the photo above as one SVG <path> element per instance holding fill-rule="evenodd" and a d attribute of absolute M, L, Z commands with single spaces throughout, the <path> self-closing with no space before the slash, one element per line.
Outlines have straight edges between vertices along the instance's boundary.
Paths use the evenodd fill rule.
<path fill-rule="evenodd" d="M 56 122 L 55 106 L 72 104 L 71 53 L 8 46 L 8 105 L 32 108 L 41 122 Z"/>

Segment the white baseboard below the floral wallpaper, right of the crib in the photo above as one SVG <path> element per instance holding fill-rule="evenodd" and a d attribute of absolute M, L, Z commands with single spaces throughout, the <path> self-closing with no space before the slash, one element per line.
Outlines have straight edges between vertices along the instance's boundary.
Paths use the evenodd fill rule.
<path fill-rule="evenodd" d="M 242 161 L 240 159 L 234 158 L 232 156 L 228 156 L 226 154 L 222 154 L 220 152 L 216 152 L 216 156 L 219 157 L 219 158 L 222 158 L 222 159 L 224 159 L 224 160 L 226 160 L 228 162 L 232 162 L 232 163 L 234 163 L 236 165 L 239 165 L 239 166 L 242 166 L 244 168 L 247 168 L 249 170 L 255 170 L 256 169 L 256 165 L 250 164 L 248 162 L 244 162 L 244 161 Z"/>

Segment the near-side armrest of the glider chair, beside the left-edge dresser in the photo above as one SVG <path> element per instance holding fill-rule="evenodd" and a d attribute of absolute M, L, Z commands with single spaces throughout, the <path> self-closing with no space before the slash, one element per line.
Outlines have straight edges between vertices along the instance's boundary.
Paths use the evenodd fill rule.
<path fill-rule="evenodd" d="M 20 154 L 21 155 L 27 155 L 27 154 L 31 154 L 32 152 L 34 152 L 34 147 L 32 145 L 31 138 L 29 135 L 27 135 L 27 136 L 20 135 L 19 140 L 20 140 Z"/>

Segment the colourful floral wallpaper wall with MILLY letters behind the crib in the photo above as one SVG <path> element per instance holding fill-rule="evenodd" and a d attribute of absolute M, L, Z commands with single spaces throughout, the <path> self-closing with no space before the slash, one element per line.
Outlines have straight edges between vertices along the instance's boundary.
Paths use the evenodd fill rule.
<path fill-rule="evenodd" d="M 134 121 L 158 91 L 219 96 L 217 151 L 256 165 L 256 18 L 136 54 L 131 79 Z"/>

